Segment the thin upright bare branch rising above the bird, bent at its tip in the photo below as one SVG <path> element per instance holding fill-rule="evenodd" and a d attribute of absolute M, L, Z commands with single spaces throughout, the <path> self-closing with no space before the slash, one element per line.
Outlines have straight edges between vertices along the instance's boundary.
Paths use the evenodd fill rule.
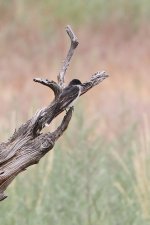
<path fill-rule="evenodd" d="M 73 30 L 71 29 L 71 27 L 69 25 L 66 27 L 66 32 L 70 37 L 71 46 L 70 46 L 70 49 L 69 49 L 68 54 L 66 56 L 66 59 L 63 62 L 63 65 L 62 65 L 62 68 L 59 72 L 59 75 L 57 77 L 58 78 L 58 84 L 60 85 L 60 87 L 62 89 L 64 88 L 65 74 L 66 74 L 67 68 L 69 66 L 70 60 L 73 56 L 75 48 L 79 44 L 76 35 L 74 34 Z"/>

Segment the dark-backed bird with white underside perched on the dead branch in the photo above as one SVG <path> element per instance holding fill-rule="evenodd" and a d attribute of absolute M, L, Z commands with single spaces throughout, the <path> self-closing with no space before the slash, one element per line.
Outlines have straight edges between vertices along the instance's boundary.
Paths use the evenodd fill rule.
<path fill-rule="evenodd" d="M 78 79 L 73 79 L 70 81 L 67 87 L 65 87 L 57 99 L 56 105 L 54 107 L 54 114 L 57 114 L 60 107 L 64 108 L 66 112 L 74 106 L 75 102 L 79 98 L 82 92 L 82 83 Z M 45 126 L 49 126 L 49 121 L 46 121 Z"/>

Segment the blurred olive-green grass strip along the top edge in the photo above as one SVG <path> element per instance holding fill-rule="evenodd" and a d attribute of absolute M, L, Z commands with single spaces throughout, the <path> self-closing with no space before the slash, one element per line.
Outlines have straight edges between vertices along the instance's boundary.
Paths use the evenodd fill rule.
<path fill-rule="evenodd" d="M 13 9 L 13 10 L 12 10 Z M 96 27 L 116 21 L 130 26 L 140 26 L 150 19 L 148 0 L 15 0 L 0 2 L 0 17 L 10 19 L 10 24 L 40 24 L 44 29 L 70 23 L 73 26 Z M 34 23 L 33 23 L 34 22 Z M 32 26 L 31 26 L 32 27 Z"/>

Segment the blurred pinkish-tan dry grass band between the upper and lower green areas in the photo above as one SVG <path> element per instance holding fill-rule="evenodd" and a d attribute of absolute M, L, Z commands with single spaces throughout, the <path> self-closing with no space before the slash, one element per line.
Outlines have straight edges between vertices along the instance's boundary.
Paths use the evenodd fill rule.
<path fill-rule="evenodd" d="M 126 37 L 125 31 L 116 33 L 115 29 L 105 28 L 102 33 L 78 31 L 80 45 L 67 75 L 67 81 L 73 77 L 85 81 L 97 70 L 106 70 L 111 75 L 82 99 L 87 115 L 99 118 L 99 129 L 110 137 L 120 133 L 120 126 L 126 129 L 130 123 L 141 122 L 143 113 L 149 113 L 150 46 L 146 31 Z M 52 100 L 52 93 L 34 84 L 32 78 L 56 79 L 68 47 L 65 33 L 58 34 L 63 38 L 57 37 L 55 43 L 51 38 L 40 40 L 39 34 L 34 34 L 32 42 L 28 35 L 18 34 L 11 43 L 0 44 L 5 46 L 0 61 L 2 123 L 12 111 L 26 119 L 29 111 L 36 111 Z M 26 44 L 19 44 L 20 40 Z"/>

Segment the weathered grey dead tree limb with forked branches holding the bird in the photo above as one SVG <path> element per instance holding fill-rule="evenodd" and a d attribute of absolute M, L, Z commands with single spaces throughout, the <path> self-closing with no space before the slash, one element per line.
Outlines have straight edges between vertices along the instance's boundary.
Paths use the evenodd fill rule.
<path fill-rule="evenodd" d="M 4 200 L 7 197 L 4 191 L 20 172 L 38 163 L 54 147 L 71 120 L 73 107 L 67 111 L 61 125 L 54 132 L 42 133 L 42 129 L 47 124 L 50 124 L 69 105 L 69 96 L 68 99 L 66 98 L 65 104 L 62 104 L 59 96 L 65 87 L 65 73 L 78 41 L 70 26 L 67 26 L 66 31 L 70 37 L 71 46 L 58 75 L 58 83 L 47 79 L 34 79 L 35 82 L 52 89 L 54 100 L 49 106 L 39 110 L 31 119 L 16 130 L 6 143 L 0 144 L 0 200 Z M 95 73 L 89 81 L 82 84 L 80 95 L 86 93 L 107 77 L 108 75 L 105 72 Z"/>

